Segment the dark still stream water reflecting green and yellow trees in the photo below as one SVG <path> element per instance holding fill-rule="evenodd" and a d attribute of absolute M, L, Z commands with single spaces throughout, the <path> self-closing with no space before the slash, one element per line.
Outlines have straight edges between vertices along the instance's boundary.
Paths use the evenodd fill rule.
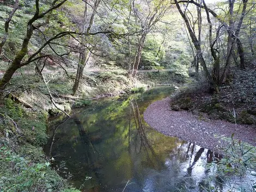
<path fill-rule="evenodd" d="M 106 98 L 50 122 L 47 156 L 82 191 L 199 191 L 217 154 L 150 128 L 143 112 L 169 96 L 169 86 L 127 98 Z M 126 186 L 127 182 L 129 184 Z M 183 187 L 182 187 L 183 186 Z"/>

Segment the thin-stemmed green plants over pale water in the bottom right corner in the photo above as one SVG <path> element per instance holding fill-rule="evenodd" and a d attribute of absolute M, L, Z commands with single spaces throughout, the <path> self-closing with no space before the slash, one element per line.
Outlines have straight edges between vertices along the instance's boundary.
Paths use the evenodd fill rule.
<path fill-rule="evenodd" d="M 211 163 L 217 171 L 205 180 L 204 191 L 218 191 L 218 184 L 224 185 L 227 191 L 254 191 L 256 188 L 256 148 L 240 140 L 221 138 L 223 158 Z M 214 184 L 215 183 L 215 184 Z"/>

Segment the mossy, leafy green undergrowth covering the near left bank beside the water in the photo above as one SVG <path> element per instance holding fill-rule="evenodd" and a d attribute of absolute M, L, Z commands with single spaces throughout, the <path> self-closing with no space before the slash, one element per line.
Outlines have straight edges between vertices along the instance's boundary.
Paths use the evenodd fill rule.
<path fill-rule="evenodd" d="M 47 114 L 25 110 L 11 98 L 0 105 L 0 191 L 79 191 L 51 170 L 42 151 Z"/>

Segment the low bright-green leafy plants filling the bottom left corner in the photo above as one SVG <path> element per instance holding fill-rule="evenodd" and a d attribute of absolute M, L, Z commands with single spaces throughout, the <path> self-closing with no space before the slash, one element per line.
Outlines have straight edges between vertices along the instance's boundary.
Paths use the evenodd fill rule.
<path fill-rule="evenodd" d="M 60 191 L 64 182 L 50 169 L 50 163 L 34 163 L 13 152 L 6 144 L 0 148 L 1 191 Z M 67 191 L 72 191 L 67 189 Z M 76 191 L 76 190 L 73 190 Z"/>

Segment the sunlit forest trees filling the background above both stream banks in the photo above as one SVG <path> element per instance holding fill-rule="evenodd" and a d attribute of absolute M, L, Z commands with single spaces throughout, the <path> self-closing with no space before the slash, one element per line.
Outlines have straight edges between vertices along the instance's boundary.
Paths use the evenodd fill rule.
<path fill-rule="evenodd" d="M 4 1 L 1 94 L 17 70 L 42 75 L 49 65 L 72 79 L 74 95 L 84 69 L 102 66 L 131 78 L 139 69 L 194 71 L 218 91 L 231 66 L 254 60 L 254 7 L 254 0 Z"/>

